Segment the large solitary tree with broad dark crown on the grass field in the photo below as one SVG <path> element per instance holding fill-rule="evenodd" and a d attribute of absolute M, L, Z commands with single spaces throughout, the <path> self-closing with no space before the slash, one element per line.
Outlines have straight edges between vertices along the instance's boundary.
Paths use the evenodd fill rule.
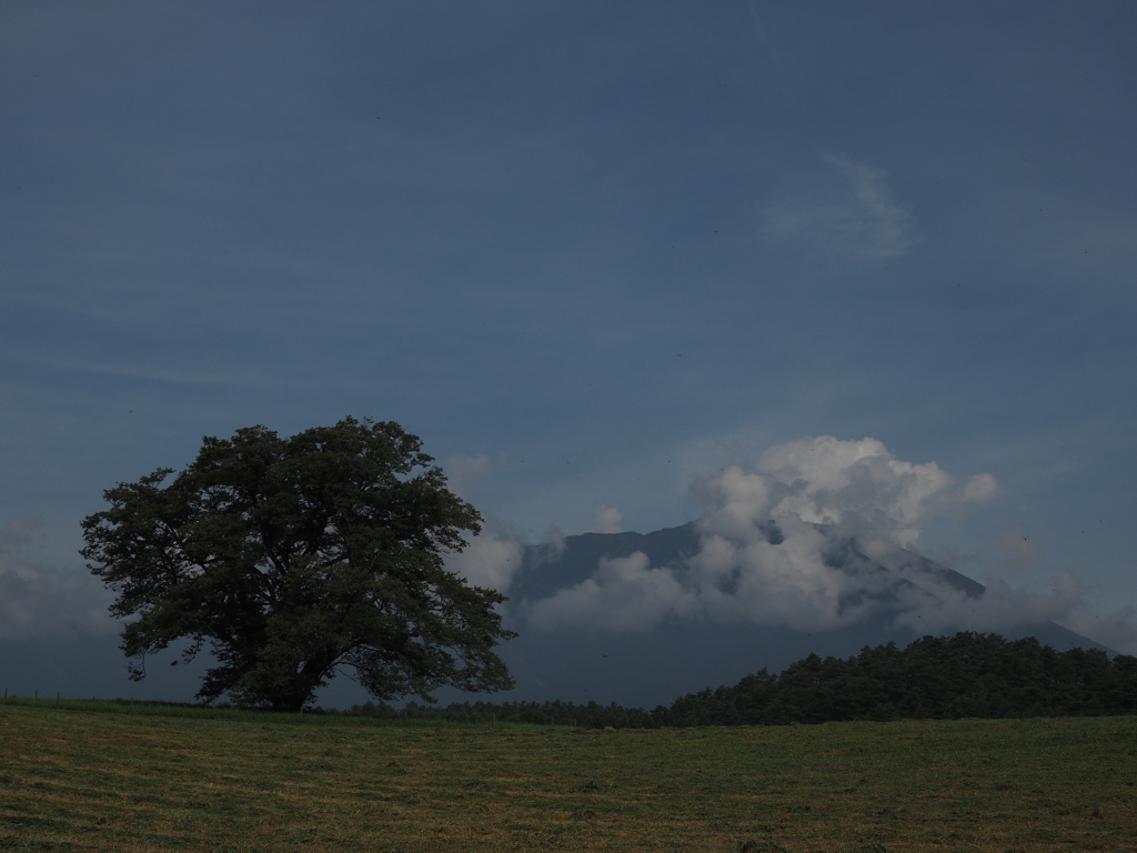
<path fill-rule="evenodd" d="M 374 697 L 438 687 L 501 690 L 492 589 L 443 566 L 481 516 L 446 488 L 422 442 L 392 422 L 280 438 L 264 426 L 207 437 L 166 482 L 159 469 L 103 492 L 81 554 L 117 594 L 134 680 L 147 656 L 185 640 L 218 665 L 198 697 L 299 710 L 346 671 Z M 176 663 L 176 661 L 175 661 Z"/>

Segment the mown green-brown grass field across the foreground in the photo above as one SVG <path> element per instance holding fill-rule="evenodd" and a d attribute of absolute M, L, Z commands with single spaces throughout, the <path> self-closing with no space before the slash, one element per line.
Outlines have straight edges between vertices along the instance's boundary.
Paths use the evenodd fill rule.
<path fill-rule="evenodd" d="M 0 704 L 0 851 L 779 850 L 1137 851 L 1137 718 L 586 731 Z"/>

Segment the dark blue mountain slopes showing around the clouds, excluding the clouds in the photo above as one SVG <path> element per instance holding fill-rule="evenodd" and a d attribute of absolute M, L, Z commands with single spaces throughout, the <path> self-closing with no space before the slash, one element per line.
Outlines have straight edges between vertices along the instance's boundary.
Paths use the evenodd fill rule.
<path fill-rule="evenodd" d="M 905 645 L 926 633 L 954 632 L 968 628 L 969 610 L 982 611 L 984 599 L 993 595 L 914 552 L 872 558 L 832 527 L 818 524 L 812 533 L 824 544 L 827 569 L 849 580 L 850 591 L 838 603 L 833 624 L 828 616 L 806 624 L 791 612 L 782 618 L 766 612 L 770 618 L 756 621 L 738 612 L 721 618 L 691 608 L 673 610 L 649 623 L 645 613 L 658 611 L 667 595 L 688 604 L 714 601 L 698 594 L 706 545 L 698 522 L 646 535 L 582 533 L 525 548 L 511 587 L 511 611 L 522 637 L 503 649 L 518 681 L 513 696 L 654 706 L 703 687 L 733 684 L 762 668 L 779 671 L 811 652 L 847 656 L 866 645 Z M 766 535 L 771 547 L 785 544 L 777 525 L 767 525 Z M 666 580 L 634 580 L 652 573 Z M 730 583 L 737 593 L 738 578 L 728 579 L 719 591 L 728 595 Z M 633 590 L 649 596 L 652 589 L 656 598 L 646 604 L 632 598 Z M 604 604 L 605 595 L 615 603 Z M 573 606 L 561 607 L 558 602 Z M 624 616 L 617 607 L 628 608 Z M 957 623 L 944 620 L 949 612 L 960 613 Z M 846 613 L 860 615 L 846 619 Z M 1029 614 L 1019 619 L 1009 613 L 1002 627 L 982 630 L 1013 639 L 1037 637 L 1057 649 L 1103 648 Z"/>

